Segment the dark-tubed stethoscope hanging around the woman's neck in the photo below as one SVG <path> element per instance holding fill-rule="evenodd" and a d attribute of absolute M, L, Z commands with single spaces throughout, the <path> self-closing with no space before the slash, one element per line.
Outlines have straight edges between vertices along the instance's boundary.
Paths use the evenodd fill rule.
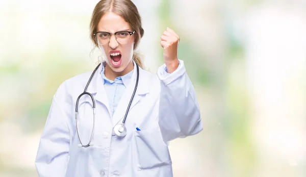
<path fill-rule="evenodd" d="M 100 63 L 101 64 L 101 63 Z M 95 125 L 95 100 L 94 100 L 94 97 L 92 96 L 91 93 L 87 92 L 87 87 L 95 73 L 95 71 L 99 68 L 100 64 L 98 64 L 98 66 L 93 70 L 86 86 L 85 86 L 85 89 L 84 89 L 84 92 L 81 93 L 77 99 L 77 104 L 75 105 L 75 121 L 76 121 L 76 124 L 77 124 L 77 133 L 78 133 L 78 137 L 79 137 L 79 140 L 80 140 L 80 143 L 78 146 L 79 147 L 88 147 L 88 146 L 93 146 L 93 143 L 91 143 L 91 139 L 92 139 L 92 136 L 93 136 L 93 132 L 94 132 L 94 125 Z M 124 125 L 125 123 L 125 120 L 126 120 L 126 116 L 127 116 L 127 113 L 129 113 L 129 109 L 130 109 L 130 106 L 132 104 L 132 101 L 133 101 L 133 98 L 134 98 L 134 95 L 135 95 L 135 92 L 137 90 L 137 86 L 138 86 L 138 79 L 139 79 L 139 67 L 136 63 L 136 66 L 137 66 L 137 79 L 136 79 L 136 84 L 135 84 L 135 88 L 134 88 L 134 92 L 132 94 L 132 97 L 131 97 L 131 100 L 130 100 L 130 103 L 129 103 L 129 106 L 127 106 L 127 109 L 126 109 L 126 112 L 125 112 L 125 115 L 124 115 L 124 118 L 122 120 L 122 123 L 117 123 L 115 125 L 115 127 L 113 128 L 113 131 L 115 133 L 115 135 L 117 135 L 118 137 L 124 137 L 126 135 L 126 127 Z M 80 98 L 83 96 L 83 95 L 89 95 L 91 100 L 92 100 L 92 108 L 93 108 L 93 125 L 92 125 L 92 131 L 91 131 L 91 135 L 90 135 L 90 139 L 89 139 L 89 142 L 84 145 L 82 140 L 81 140 L 81 137 L 80 137 L 80 133 L 79 133 L 79 127 L 78 127 L 78 107 L 79 107 L 79 100 Z"/>

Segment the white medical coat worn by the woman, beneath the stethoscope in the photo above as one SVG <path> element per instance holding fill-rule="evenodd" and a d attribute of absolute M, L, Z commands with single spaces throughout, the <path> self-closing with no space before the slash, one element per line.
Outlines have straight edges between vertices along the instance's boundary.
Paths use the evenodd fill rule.
<path fill-rule="evenodd" d="M 122 122 L 136 83 L 133 72 L 111 118 L 103 78 L 93 75 L 89 84 L 96 103 L 93 146 L 78 147 L 80 140 L 75 124 L 75 103 L 84 91 L 91 72 L 63 82 L 54 95 L 36 157 L 40 177 L 171 177 L 172 162 L 168 142 L 202 130 L 195 90 L 184 62 L 165 77 L 165 64 L 157 74 L 139 68 L 139 82 L 120 138 L 112 128 Z M 135 70 L 134 70 L 135 71 Z M 82 96 L 79 102 L 78 127 L 83 144 L 87 144 L 93 127 L 92 102 Z M 139 128 L 140 131 L 137 131 Z"/>

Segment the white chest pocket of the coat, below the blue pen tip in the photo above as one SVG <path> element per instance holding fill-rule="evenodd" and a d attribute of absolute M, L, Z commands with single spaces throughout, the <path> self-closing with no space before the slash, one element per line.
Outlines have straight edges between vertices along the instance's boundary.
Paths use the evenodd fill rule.
<path fill-rule="evenodd" d="M 159 128 L 135 131 L 133 138 L 137 151 L 137 170 L 172 164 L 168 145 L 163 141 Z"/>

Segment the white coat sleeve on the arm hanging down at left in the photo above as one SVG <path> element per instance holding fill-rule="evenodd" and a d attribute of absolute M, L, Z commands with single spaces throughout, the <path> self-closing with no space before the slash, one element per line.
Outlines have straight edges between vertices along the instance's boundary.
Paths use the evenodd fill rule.
<path fill-rule="evenodd" d="M 35 160 L 39 177 L 64 177 L 66 174 L 69 128 L 67 115 L 62 110 L 64 97 L 63 91 L 55 94 L 49 110 Z"/>

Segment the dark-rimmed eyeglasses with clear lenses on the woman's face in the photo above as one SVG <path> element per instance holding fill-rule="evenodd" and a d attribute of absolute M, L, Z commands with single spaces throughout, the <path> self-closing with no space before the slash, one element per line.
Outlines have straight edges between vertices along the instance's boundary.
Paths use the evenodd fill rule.
<path fill-rule="evenodd" d="M 116 41 L 120 44 L 126 44 L 130 42 L 131 35 L 133 35 L 135 31 L 118 31 L 116 33 L 109 33 L 109 32 L 97 32 L 93 34 L 95 36 L 95 40 L 98 44 L 105 45 L 109 43 L 111 39 L 111 35 L 114 34 Z"/>

